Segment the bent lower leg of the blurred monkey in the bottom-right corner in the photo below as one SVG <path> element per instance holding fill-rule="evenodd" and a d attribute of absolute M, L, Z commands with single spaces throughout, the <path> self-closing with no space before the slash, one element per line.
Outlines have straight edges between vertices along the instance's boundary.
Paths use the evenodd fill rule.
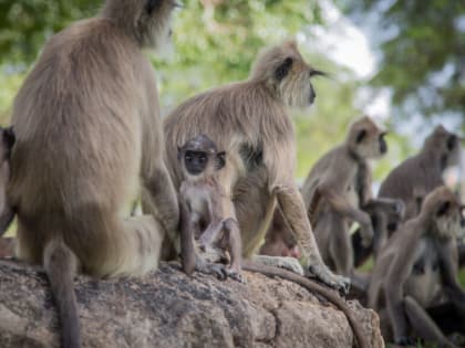
<path fill-rule="evenodd" d="M 411 296 L 404 298 L 405 314 L 416 334 L 426 341 L 436 342 L 444 347 L 455 348 L 432 320 L 426 310 Z"/>

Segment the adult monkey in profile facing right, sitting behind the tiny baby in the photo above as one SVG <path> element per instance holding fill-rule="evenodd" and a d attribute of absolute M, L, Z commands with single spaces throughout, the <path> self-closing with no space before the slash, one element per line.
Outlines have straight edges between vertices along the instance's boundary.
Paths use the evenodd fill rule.
<path fill-rule="evenodd" d="M 310 78 L 319 74 L 303 61 L 294 42 L 265 50 L 247 81 L 194 96 L 167 117 L 167 165 L 178 187 L 183 176 L 177 148 L 196 135 L 210 137 L 227 154 L 219 180 L 235 203 L 245 256 L 260 246 L 277 201 L 310 273 L 345 291 L 349 280 L 334 275 L 321 260 L 293 179 L 296 136 L 286 107 L 311 105 L 316 94 Z M 271 265 L 287 263 L 265 257 Z"/>

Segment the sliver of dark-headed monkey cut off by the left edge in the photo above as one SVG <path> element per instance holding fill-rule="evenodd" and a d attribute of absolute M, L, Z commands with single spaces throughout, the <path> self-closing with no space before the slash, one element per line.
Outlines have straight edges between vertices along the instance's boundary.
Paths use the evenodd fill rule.
<path fill-rule="evenodd" d="M 7 232 L 14 218 L 14 210 L 7 199 L 7 184 L 10 180 L 10 154 L 16 141 L 12 127 L 0 127 L 0 236 Z"/>

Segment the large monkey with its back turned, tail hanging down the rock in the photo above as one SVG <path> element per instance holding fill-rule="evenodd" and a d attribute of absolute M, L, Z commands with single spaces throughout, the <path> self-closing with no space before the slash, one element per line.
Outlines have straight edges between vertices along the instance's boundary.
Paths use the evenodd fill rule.
<path fill-rule="evenodd" d="M 66 348 L 81 347 L 76 270 L 146 274 L 164 235 L 177 235 L 156 81 L 142 52 L 169 36 L 176 6 L 106 0 L 99 17 L 50 39 L 14 99 L 17 256 L 44 265 Z M 145 215 L 130 218 L 138 194 Z"/>

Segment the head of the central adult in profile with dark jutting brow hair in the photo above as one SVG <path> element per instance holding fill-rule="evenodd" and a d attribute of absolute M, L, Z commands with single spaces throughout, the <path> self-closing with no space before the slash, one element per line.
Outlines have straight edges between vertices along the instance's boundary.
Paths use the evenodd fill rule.
<path fill-rule="evenodd" d="M 287 41 L 260 52 L 250 80 L 262 82 L 276 98 L 288 106 L 307 107 L 317 96 L 310 78 L 318 75 L 326 74 L 306 63 L 296 42 Z"/>

